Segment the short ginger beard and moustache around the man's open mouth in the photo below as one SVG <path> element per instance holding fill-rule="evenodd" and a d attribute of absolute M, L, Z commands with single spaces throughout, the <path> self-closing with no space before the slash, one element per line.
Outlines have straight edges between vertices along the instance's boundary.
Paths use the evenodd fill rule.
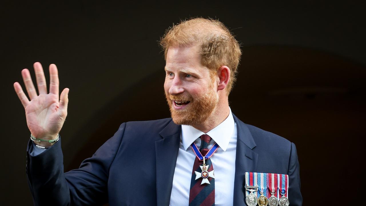
<path fill-rule="evenodd" d="M 184 94 L 170 95 L 167 92 L 165 92 L 165 97 L 167 98 L 173 122 L 177 125 L 193 126 L 201 124 L 210 117 L 219 103 L 219 95 L 214 92 L 213 84 L 209 86 L 207 92 L 195 98 Z M 173 100 L 190 102 L 185 108 L 175 110 Z"/>

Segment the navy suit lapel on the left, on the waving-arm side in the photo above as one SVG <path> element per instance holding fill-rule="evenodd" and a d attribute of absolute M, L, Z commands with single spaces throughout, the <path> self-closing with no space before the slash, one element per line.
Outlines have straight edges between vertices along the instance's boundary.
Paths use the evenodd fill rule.
<path fill-rule="evenodd" d="M 175 164 L 178 157 L 181 126 L 171 121 L 161 132 L 156 149 L 156 199 L 157 205 L 168 206 L 172 192 Z"/>

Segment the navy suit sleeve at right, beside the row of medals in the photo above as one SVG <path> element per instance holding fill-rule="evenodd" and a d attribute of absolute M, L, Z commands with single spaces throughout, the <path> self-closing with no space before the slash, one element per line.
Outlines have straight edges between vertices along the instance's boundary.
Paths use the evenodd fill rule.
<path fill-rule="evenodd" d="M 288 200 L 290 206 L 301 206 L 302 195 L 300 192 L 300 166 L 296 151 L 296 146 L 291 143 L 290 161 L 288 165 Z"/>

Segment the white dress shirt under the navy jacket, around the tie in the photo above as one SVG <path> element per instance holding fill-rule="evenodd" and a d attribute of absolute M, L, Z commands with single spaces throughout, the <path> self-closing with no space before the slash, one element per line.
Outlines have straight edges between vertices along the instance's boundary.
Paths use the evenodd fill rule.
<path fill-rule="evenodd" d="M 192 169 L 196 157 L 191 144 L 195 142 L 199 148 L 201 145 L 199 137 L 203 134 L 205 133 L 193 126 L 182 125 L 170 206 L 189 205 Z M 212 138 L 208 148 L 211 148 L 215 142 L 220 146 L 210 157 L 215 170 L 215 206 L 233 205 L 237 129 L 231 110 L 229 116 L 220 125 L 206 134 Z M 202 181 L 202 179 L 196 181 Z"/>

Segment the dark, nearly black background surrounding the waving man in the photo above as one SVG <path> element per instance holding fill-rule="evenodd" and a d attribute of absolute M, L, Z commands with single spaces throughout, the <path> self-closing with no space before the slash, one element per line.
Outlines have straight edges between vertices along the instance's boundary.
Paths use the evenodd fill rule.
<path fill-rule="evenodd" d="M 363 190 L 357 180 L 366 122 L 365 4 L 135 2 L 3 1 L 1 205 L 32 205 L 25 174 L 29 130 L 13 89 L 15 81 L 24 88 L 22 69 L 34 78 L 39 61 L 49 82 L 48 65 L 55 63 L 60 91 L 70 88 L 60 132 L 68 171 L 122 122 L 170 116 L 158 40 L 172 23 L 192 16 L 219 19 L 241 43 L 231 109 L 296 144 L 304 205 L 337 203 L 337 196 Z"/>

